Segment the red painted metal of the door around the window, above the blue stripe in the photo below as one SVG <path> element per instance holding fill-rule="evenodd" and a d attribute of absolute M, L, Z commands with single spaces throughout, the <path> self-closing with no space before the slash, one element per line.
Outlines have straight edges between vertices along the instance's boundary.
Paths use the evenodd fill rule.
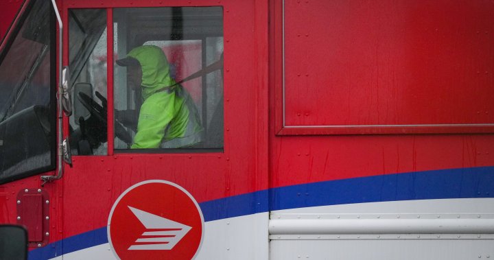
<path fill-rule="evenodd" d="M 199 203 L 268 189 L 268 135 L 264 123 L 268 121 L 267 3 L 240 0 L 220 3 L 64 1 L 62 15 L 67 24 L 69 8 L 106 8 L 110 5 L 223 6 L 224 152 L 73 156 L 73 167 L 65 167 L 63 177 L 63 198 L 70 202 L 64 204 L 63 209 L 64 237 L 106 226 L 110 207 L 121 192 L 143 180 L 174 182 L 187 189 Z M 253 33 L 245 34 L 252 30 Z M 67 55 L 64 51 L 64 64 L 67 64 Z M 108 82 L 112 81 L 113 73 L 108 73 Z M 259 125 L 266 128 L 259 128 Z M 54 185 L 59 184 L 51 182 L 45 186 Z"/>

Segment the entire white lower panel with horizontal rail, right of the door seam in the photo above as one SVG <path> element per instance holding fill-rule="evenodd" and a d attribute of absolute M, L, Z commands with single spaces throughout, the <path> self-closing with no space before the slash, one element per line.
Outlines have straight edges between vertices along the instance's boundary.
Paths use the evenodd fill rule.
<path fill-rule="evenodd" d="M 270 218 L 270 260 L 494 259 L 493 198 L 316 206 Z"/>

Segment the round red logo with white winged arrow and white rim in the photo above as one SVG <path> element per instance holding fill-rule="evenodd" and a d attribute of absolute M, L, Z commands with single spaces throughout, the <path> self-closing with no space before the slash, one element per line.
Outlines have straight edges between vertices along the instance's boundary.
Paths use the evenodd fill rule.
<path fill-rule="evenodd" d="M 122 193 L 108 217 L 108 241 L 118 259 L 193 259 L 204 218 L 183 187 L 165 180 L 139 182 Z"/>

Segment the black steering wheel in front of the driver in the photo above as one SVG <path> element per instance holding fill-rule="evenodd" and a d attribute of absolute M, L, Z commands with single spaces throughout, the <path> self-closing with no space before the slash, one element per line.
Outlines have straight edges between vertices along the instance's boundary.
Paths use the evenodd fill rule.
<path fill-rule="evenodd" d="M 104 98 L 101 94 L 96 92 L 96 96 L 102 101 L 103 106 L 99 105 L 97 102 L 95 102 L 89 95 L 86 95 L 85 93 L 78 93 L 78 99 L 81 102 L 81 104 L 89 110 L 89 113 L 91 113 L 92 116 L 94 116 L 97 121 L 100 121 L 101 123 L 104 123 L 106 126 L 106 98 Z M 132 137 L 130 134 L 126 131 L 124 126 L 122 124 L 115 120 L 115 136 L 117 136 L 121 141 L 124 141 L 128 145 L 132 143 Z"/>

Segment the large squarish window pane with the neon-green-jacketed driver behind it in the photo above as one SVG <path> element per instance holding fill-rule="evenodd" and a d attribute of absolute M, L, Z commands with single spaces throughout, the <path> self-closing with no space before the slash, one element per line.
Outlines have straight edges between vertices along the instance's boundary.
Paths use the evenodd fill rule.
<path fill-rule="evenodd" d="M 222 150 L 222 13 L 115 9 L 116 150 Z"/>

